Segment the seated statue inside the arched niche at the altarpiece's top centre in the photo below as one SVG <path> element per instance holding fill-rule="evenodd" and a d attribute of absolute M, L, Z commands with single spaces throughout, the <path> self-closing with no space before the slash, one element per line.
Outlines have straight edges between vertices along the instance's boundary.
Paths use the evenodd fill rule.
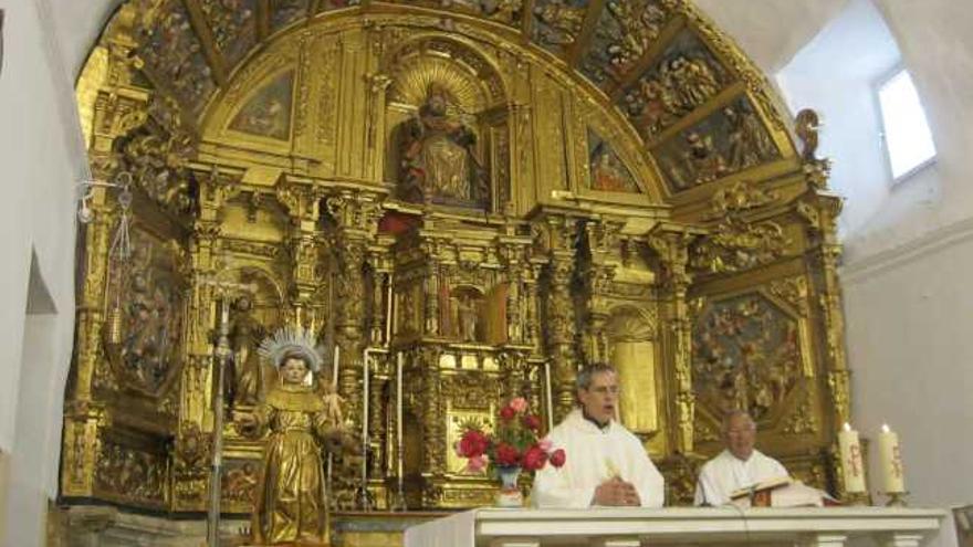
<path fill-rule="evenodd" d="M 485 204 L 485 171 L 477 135 L 457 112 L 449 90 L 429 85 L 426 102 L 400 134 L 402 198 L 419 202 Z"/>

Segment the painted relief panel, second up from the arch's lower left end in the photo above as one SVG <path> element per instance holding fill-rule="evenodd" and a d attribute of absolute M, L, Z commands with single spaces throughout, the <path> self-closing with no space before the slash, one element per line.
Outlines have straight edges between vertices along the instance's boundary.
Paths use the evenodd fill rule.
<path fill-rule="evenodd" d="M 236 65 L 257 41 L 257 0 L 201 0 L 215 45 Z"/>

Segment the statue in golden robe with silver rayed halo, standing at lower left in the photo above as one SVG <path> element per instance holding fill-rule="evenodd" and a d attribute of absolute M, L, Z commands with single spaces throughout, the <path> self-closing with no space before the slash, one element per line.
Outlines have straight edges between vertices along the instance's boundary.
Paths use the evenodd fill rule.
<path fill-rule="evenodd" d="M 314 347 L 300 329 L 264 340 L 260 353 L 279 367 L 280 383 L 253 413 L 234 413 L 248 435 L 270 432 L 254 495 L 255 545 L 329 545 L 323 454 L 345 435 L 338 396 L 313 387 L 321 365 Z"/>

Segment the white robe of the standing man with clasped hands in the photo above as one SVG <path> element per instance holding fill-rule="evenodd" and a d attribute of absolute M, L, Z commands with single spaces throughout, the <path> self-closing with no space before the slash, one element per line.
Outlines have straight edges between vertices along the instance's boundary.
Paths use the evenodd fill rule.
<path fill-rule="evenodd" d="M 635 486 L 642 507 L 662 506 L 662 475 L 641 441 L 621 424 L 611 421 L 601 429 L 575 409 L 547 439 L 555 449 L 564 449 L 567 459 L 561 469 L 548 464 L 537 472 L 534 506 L 589 507 L 595 488 L 616 475 Z"/>

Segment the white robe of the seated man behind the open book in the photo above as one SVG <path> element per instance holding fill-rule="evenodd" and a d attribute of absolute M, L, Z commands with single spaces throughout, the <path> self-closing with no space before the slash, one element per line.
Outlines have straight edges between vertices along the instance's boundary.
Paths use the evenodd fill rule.
<path fill-rule="evenodd" d="M 695 483 L 697 505 L 724 505 L 730 503 L 730 494 L 764 481 L 788 476 L 781 462 L 754 450 L 746 461 L 740 460 L 724 450 L 700 470 Z"/>

